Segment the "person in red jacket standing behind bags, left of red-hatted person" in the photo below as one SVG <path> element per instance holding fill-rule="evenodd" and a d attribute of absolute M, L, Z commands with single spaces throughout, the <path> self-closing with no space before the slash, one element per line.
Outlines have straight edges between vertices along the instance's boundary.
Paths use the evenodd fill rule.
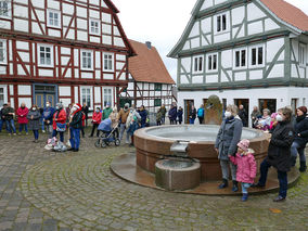
<path fill-rule="evenodd" d="M 56 137 L 59 132 L 60 141 L 64 142 L 64 131 L 66 130 L 66 112 L 64 111 L 62 103 L 57 103 L 55 110 L 56 111 L 53 114 L 52 137 Z"/>

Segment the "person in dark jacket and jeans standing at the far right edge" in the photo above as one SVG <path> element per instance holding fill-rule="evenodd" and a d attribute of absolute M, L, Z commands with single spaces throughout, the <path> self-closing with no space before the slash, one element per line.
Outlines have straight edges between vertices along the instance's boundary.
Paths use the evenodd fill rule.
<path fill-rule="evenodd" d="M 295 138 L 291 146 L 292 166 L 295 166 L 297 153 L 299 154 L 299 171 L 307 169 L 305 147 L 308 142 L 308 117 L 307 107 L 299 106 L 296 110 L 296 119 L 294 121 Z"/>

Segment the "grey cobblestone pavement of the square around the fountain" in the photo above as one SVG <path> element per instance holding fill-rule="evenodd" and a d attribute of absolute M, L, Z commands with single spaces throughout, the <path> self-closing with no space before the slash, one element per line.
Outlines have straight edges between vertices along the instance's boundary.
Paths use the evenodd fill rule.
<path fill-rule="evenodd" d="M 202 196 L 126 182 L 112 159 L 133 149 L 94 147 L 79 153 L 43 150 L 31 136 L 0 134 L 0 230 L 308 230 L 308 174 L 288 191 L 251 196 Z"/>

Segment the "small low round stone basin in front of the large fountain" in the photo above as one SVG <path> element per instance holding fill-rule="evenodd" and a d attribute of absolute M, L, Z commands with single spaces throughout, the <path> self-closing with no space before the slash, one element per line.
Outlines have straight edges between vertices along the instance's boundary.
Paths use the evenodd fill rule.
<path fill-rule="evenodd" d="M 189 190 L 201 181 L 201 165 L 192 161 L 161 159 L 155 164 L 155 183 L 166 190 Z"/>

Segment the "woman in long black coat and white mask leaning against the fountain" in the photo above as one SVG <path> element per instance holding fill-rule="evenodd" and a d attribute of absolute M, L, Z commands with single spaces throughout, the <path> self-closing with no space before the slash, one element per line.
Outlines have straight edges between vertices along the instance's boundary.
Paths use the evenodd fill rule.
<path fill-rule="evenodd" d="M 279 195 L 273 202 L 284 201 L 287 191 L 287 171 L 291 168 L 291 145 L 294 141 L 294 130 L 291 123 L 292 110 L 284 107 L 279 110 L 277 115 L 279 121 L 272 131 L 269 144 L 268 156 L 260 165 L 259 182 L 255 187 L 265 187 L 268 169 L 277 168 L 279 179 Z"/>

